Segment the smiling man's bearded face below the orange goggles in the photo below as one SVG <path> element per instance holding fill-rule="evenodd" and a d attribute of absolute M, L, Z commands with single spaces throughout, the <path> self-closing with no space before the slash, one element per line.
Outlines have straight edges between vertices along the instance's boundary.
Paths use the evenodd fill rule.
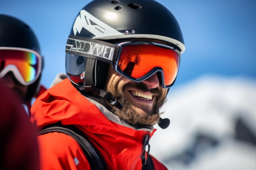
<path fill-rule="evenodd" d="M 137 83 L 118 74 L 110 66 L 108 75 L 107 91 L 124 106 L 122 110 L 112 107 L 114 114 L 130 124 L 158 123 L 159 108 L 166 100 L 167 89 L 159 86 L 156 74 Z"/>

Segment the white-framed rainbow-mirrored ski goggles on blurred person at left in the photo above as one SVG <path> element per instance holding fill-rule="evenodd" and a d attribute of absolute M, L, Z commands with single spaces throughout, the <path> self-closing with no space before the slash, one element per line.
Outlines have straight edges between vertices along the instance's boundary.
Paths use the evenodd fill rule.
<path fill-rule="evenodd" d="M 20 84 L 27 86 L 40 76 L 42 57 L 29 49 L 0 47 L 0 78 L 12 72 Z"/>

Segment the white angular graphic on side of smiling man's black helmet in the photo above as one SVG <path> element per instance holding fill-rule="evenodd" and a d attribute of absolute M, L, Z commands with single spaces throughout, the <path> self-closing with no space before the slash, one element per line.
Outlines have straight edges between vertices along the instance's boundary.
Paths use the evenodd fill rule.
<path fill-rule="evenodd" d="M 76 17 L 76 20 L 73 25 L 73 33 L 76 35 L 77 33 L 81 33 L 82 29 L 85 28 L 90 33 L 94 34 L 95 37 L 106 37 L 112 35 L 123 35 L 116 29 L 111 26 L 105 24 L 101 20 L 95 18 L 93 15 L 82 9 L 79 15 Z"/>

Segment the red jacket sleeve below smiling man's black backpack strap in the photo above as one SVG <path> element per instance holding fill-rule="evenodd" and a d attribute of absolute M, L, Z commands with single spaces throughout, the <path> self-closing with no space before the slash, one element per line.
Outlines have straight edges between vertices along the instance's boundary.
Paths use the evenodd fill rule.
<path fill-rule="evenodd" d="M 72 137 L 53 132 L 38 136 L 40 170 L 90 170 L 83 150 Z"/>

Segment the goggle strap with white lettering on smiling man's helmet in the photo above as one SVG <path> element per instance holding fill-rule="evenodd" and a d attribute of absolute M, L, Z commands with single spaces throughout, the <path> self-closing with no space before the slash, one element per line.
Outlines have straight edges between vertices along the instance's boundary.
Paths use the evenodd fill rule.
<path fill-rule="evenodd" d="M 90 54 L 112 61 L 115 48 L 94 42 L 68 38 L 66 50 L 76 52 L 77 55 L 81 56 L 84 56 L 83 54 Z"/>

